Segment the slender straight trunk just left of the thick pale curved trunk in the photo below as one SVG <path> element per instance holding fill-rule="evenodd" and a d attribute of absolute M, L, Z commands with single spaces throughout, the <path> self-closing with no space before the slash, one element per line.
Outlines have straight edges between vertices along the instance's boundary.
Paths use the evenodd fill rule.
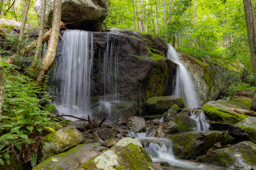
<path fill-rule="evenodd" d="M 42 41 L 44 36 L 44 18 L 45 18 L 45 7 L 46 7 L 46 0 L 42 1 L 42 7 L 41 7 L 41 17 L 40 17 L 40 27 L 39 27 L 39 35 L 38 35 L 38 41 L 36 45 L 36 52 L 34 58 L 36 60 L 39 59 L 41 49 L 42 49 Z"/>

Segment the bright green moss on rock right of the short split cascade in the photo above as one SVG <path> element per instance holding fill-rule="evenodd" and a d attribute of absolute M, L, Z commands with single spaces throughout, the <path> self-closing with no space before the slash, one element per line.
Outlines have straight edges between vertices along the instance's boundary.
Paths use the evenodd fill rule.
<path fill-rule="evenodd" d="M 238 113 L 226 111 L 225 109 L 205 104 L 203 111 L 211 121 L 235 124 L 249 117 Z"/>

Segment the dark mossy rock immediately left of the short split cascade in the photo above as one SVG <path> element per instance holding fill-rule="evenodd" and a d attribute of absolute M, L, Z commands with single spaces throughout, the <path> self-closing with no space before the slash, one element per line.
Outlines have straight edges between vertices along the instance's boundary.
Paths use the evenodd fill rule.
<path fill-rule="evenodd" d="M 173 122 L 177 124 L 178 132 L 189 132 L 196 128 L 196 122 L 189 117 L 188 112 L 182 111 L 174 118 Z"/>

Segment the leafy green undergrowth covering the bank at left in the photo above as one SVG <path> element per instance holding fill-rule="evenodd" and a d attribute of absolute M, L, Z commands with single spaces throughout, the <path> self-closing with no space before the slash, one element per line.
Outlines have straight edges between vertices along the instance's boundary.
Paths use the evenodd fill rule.
<path fill-rule="evenodd" d="M 18 72 L 19 67 L 1 64 L 5 67 L 5 101 L 0 117 L 0 164 L 7 166 L 10 164 L 10 148 L 15 155 L 23 154 L 25 163 L 29 162 L 31 155 L 35 158 L 32 153 L 37 154 L 39 137 L 59 125 L 52 114 L 51 97 L 45 89 Z"/>

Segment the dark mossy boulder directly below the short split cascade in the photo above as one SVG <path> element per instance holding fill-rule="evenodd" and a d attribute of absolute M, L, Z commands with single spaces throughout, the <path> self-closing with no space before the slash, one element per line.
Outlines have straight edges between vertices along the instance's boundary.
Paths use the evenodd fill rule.
<path fill-rule="evenodd" d="M 173 141 L 173 153 L 181 159 L 191 159 L 201 151 L 210 148 L 215 142 L 229 143 L 232 137 L 221 131 L 193 131 L 170 135 Z"/>

